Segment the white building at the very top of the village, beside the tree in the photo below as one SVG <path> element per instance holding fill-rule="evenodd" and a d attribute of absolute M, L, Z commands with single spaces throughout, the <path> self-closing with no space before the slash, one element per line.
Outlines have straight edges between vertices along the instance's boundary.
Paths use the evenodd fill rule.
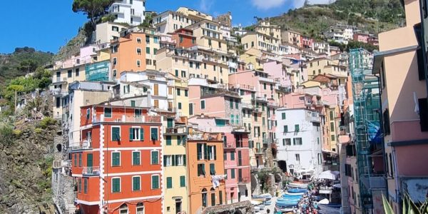
<path fill-rule="evenodd" d="M 146 0 L 116 0 L 108 8 L 108 13 L 116 16 L 116 23 L 137 26 L 146 18 Z"/>

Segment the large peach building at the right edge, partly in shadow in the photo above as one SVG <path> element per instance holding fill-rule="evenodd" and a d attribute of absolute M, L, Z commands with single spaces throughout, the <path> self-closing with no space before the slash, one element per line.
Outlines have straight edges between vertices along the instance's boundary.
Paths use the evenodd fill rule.
<path fill-rule="evenodd" d="M 424 200 L 428 180 L 427 67 L 419 1 L 404 0 L 406 24 L 379 34 L 373 73 L 379 76 L 388 200 L 399 213 L 404 193 Z M 426 27 L 426 26 L 425 26 Z M 405 39 L 403 39 L 405 38 Z"/>

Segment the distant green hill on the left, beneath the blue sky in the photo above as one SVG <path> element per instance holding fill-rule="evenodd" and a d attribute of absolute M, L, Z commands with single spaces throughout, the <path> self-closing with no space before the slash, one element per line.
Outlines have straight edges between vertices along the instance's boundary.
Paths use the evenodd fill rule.
<path fill-rule="evenodd" d="M 16 48 L 12 54 L 0 54 L 0 83 L 36 71 L 37 67 L 51 62 L 53 56 L 29 47 Z"/>

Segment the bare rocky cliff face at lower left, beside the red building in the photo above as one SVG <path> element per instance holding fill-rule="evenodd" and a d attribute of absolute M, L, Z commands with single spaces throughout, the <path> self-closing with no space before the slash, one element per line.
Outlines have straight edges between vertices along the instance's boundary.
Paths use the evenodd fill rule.
<path fill-rule="evenodd" d="M 61 127 L 45 122 L 23 123 L 0 141 L 0 213 L 54 213 L 50 154 Z"/>

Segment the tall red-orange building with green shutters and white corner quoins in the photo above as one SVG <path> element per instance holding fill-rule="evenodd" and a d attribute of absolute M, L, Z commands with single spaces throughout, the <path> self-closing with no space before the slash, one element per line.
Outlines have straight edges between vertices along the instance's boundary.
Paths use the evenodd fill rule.
<path fill-rule="evenodd" d="M 83 213 L 162 213 L 161 117 L 147 108 L 81 108 L 72 148 L 76 204 Z"/>

